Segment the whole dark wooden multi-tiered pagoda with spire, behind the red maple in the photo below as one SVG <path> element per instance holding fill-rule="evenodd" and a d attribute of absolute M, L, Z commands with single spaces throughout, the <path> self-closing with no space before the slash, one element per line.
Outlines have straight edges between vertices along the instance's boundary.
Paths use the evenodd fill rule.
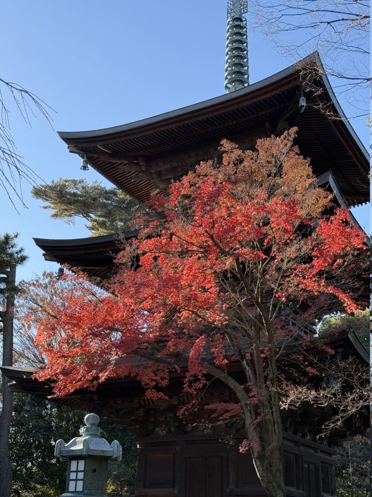
<path fill-rule="evenodd" d="M 182 177 L 201 161 L 219 158 L 223 138 L 243 150 L 257 139 L 298 128 L 296 145 L 310 158 L 318 184 L 332 192 L 334 203 L 354 207 L 369 200 L 369 154 L 344 115 L 313 53 L 298 63 L 257 83 L 249 84 L 245 1 L 229 1 L 227 92 L 140 121 L 113 128 L 60 132 L 70 153 L 84 160 L 115 186 L 146 204 L 166 192 L 171 180 Z M 322 111 L 331 111 L 330 119 Z M 356 223 L 356 221 L 354 220 Z M 109 278 L 115 271 L 120 241 L 137 231 L 71 240 L 34 239 L 48 261 L 81 268 L 89 277 Z M 366 274 L 364 300 L 369 302 Z M 314 330 L 309 330 L 310 338 Z M 316 338 L 311 353 L 321 355 Z M 364 347 L 352 331 L 326 339 L 340 358 L 368 363 Z M 231 364 L 229 367 L 235 367 Z M 32 368 L 1 368 L 11 390 L 47 397 L 53 385 L 32 378 Z M 231 402 L 232 394 L 213 382 L 200 399 L 201 408 L 184 422 L 177 416 L 190 399 L 182 392 L 185 368 L 171 376 L 167 399 L 148 400 L 133 378 L 106 380 L 94 392 L 77 390 L 53 398 L 73 409 L 108 416 L 136 436 L 136 496 L 227 497 L 265 495 L 249 454 L 240 453 L 244 433 L 228 443 L 223 426 L 200 423 L 203 406 Z M 239 369 L 236 371 L 239 377 Z M 304 405 L 283 413 L 283 460 L 286 494 L 292 497 L 335 495 L 335 447 L 356 434 L 365 434 L 368 416 L 351 416 L 342 428 L 318 442 L 326 409 Z"/>

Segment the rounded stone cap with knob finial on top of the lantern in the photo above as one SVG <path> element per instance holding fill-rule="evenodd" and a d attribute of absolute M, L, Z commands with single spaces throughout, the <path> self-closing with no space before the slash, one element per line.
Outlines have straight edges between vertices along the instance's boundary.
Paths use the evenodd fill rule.
<path fill-rule="evenodd" d="M 87 414 L 84 417 L 86 426 L 82 429 L 82 436 L 73 438 L 64 443 L 58 440 L 55 448 L 55 456 L 61 460 L 79 457 L 97 457 L 100 459 L 122 460 L 122 446 L 117 440 L 111 445 L 105 438 L 100 438 L 101 428 L 97 426 L 100 418 L 97 414 Z"/>

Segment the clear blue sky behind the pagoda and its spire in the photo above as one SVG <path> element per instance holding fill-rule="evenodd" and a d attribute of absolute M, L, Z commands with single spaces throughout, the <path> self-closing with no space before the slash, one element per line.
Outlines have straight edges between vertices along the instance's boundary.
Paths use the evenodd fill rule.
<path fill-rule="evenodd" d="M 1 10 L 0 44 L 6 50 L 0 78 L 53 107 L 54 130 L 116 126 L 224 93 L 226 0 L 5 0 Z M 270 38 L 252 30 L 249 60 L 251 83 L 289 65 Z M 81 160 L 67 152 L 42 116 L 30 128 L 7 101 L 17 152 L 44 181 L 102 179 L 92 168 L 79 169 Z M 367 144 L 365 120 L 352 124 Z M 28 209 L 18 205 L 20 214 L 0 193 L 0 233 L 19 232 L 29 260 L 18 277 L 30 278 L 58 268 L 44 261 L 32 237 L 80 238 L 88 231 L 83 222 L 52 220 L 29 195 L 29 185 L 23 190 Z M 369 230 L 368 207 L 353 212 Z"/>

